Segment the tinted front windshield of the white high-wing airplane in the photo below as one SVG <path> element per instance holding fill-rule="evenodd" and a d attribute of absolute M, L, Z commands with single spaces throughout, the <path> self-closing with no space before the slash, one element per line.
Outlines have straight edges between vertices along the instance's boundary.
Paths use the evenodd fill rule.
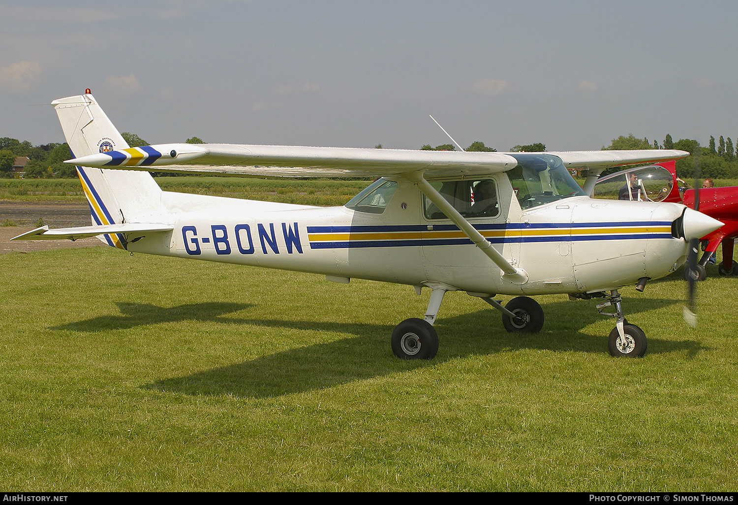
<path fill-rule="evenodd" d="M 545 153 L 509 153 L 517 167 L 507 172 L 520 207 L 530 209 L 570 196 L 585 196 L 561 158 Z"/>

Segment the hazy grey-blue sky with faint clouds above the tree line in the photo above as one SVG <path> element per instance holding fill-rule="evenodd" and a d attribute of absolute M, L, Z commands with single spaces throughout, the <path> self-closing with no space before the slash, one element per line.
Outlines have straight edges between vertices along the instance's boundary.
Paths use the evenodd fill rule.
<path fill-rule="evenodd" d="M 0 0 L 0 137 L 508 151 L 738 137 L 738 2 Z"/>

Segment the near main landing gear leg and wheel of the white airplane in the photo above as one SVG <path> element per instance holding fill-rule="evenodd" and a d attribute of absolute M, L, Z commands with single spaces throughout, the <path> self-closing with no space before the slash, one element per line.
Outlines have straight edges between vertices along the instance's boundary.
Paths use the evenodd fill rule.
<path fill-rule="evenodd" d="M 399 323 L 392 332 L 392 351 L 401 360 L 432 360 L 438 353 L 438 333 L 433 328 L 438 309 L 450 286 L 432 286 L 424 319 L 411 317 Z"/>

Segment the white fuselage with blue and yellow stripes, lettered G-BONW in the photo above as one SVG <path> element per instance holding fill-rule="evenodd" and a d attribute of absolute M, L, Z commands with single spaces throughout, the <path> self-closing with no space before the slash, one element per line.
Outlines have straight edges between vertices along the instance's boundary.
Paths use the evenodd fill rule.
<path fill-rule="evenodd" d="M 126 249 L 334 280 L 438 282 L 507 295 L 616 289 L 667 275 L 686 254 L 685 241 L 671 230 L 682 205 L 574 196 L 522 210 L 512 190 L 500 191 L 503 212 L 469 222 L 527 272 L 527 282 L 512 284 L 449 219 L 427 218 L 411 182 L 395 180 L 399 186 L 379 214 L 164 192 L 167 213 L 161 217 L 174 230 L 140 238 Z M 497 176 L 497 183 L 504 188 L 506 176 Z"/>

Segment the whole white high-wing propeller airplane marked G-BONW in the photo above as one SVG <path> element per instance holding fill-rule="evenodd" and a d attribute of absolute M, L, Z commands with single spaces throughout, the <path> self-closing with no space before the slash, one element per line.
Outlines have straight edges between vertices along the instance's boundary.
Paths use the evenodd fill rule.
<path fill-rule="evenodd" d="M 448 291 L 503 313 L 507 331 L 539 331 L 527 295 L 602 298 L 616 318 L 613 356 L 641 357 L 618 289 L 674 272 L 690 238 L 720 221 L 675 203 L 591 199 L 605 168 L 688 156 L 683 151 L 472 153 L 276 145 L 165 144 L 129 148 L 87 90 L 52 102 L 93 226 L 41 227 L 13 240 L 99 236 L 135 253 L 314 272 L 432 289 L 423 319 L 401 322 L 396 356 L 430 359 Z M 584 190 L 568 169 L 588 171 Z M 135 172 L 131 172 L 135 171 Z M 379 179 L 343 207 L 311 207 L 162 191 L 147 171 Z M 506 306 L 495 295 L 516 295 Z M 604 312 L 614 306 L 614 312 Z"/>

